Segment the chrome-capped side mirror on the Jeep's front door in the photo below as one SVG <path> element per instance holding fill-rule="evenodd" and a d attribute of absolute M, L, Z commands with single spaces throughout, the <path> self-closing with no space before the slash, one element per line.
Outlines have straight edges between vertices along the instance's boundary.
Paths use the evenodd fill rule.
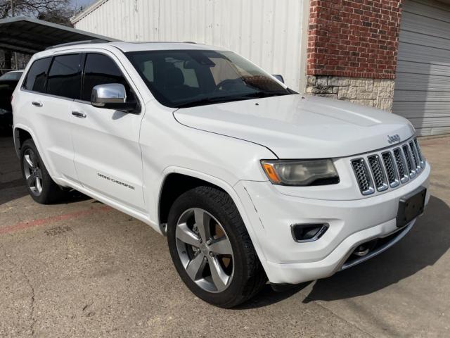
<path fill-rule="evenodd" d="M 127 92 L 120 83 L 98 84 L 92 89 L 91 105 L 98 108 L 134 111 L 136 102 L 127 102 Z"/>

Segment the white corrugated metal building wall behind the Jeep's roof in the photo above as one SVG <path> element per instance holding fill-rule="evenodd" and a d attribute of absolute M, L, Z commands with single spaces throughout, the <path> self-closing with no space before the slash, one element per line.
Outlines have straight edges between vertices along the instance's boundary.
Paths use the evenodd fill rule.
<path fill-rule="evenodd" d="M 300 89 L 303 0 L 109 0 L 75 23 L 124 41 L 225 47 Z"/>

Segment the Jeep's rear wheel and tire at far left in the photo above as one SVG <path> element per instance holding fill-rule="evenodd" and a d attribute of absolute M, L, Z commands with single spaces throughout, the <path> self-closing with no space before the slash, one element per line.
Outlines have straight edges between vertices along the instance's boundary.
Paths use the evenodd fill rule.
<path fill-rule="evenodd" d="M 63 199 L 63 190 L 53 182 L 32 139 L 23 142 L 20 160 L 23 179 L 34 201 L 51 204 Z"/>

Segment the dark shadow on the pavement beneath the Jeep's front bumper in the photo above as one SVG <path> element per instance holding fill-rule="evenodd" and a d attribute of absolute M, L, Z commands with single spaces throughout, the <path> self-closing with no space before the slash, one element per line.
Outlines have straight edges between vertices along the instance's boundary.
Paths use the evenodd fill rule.
<path fill-rule="evenodd" d="M 425 215 L 411 232 L 392 248 L 354 268 L 317 280 L 304 303 L 334 301 L 371 294 L 435 264 L 450 248 L 450 208 L 435 196 Z M 262 292 L 240 309 L 259 308 L 283 301 L 307 287 L 299 284 L 285 292 L 274 292 L 266 285 Z"/>

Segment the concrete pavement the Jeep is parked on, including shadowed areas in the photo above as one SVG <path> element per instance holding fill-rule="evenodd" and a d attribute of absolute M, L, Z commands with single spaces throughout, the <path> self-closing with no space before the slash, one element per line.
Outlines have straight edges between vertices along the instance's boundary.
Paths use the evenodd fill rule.
<path fill-rule="evenodd" d="M 223 310 L 188 291 L 147 225 L 80 194 L 35 204 L 1 138 L 0 337 L 450 337 L 450 137 L 420 143 L 432 198 L 401 242 Z"/>

